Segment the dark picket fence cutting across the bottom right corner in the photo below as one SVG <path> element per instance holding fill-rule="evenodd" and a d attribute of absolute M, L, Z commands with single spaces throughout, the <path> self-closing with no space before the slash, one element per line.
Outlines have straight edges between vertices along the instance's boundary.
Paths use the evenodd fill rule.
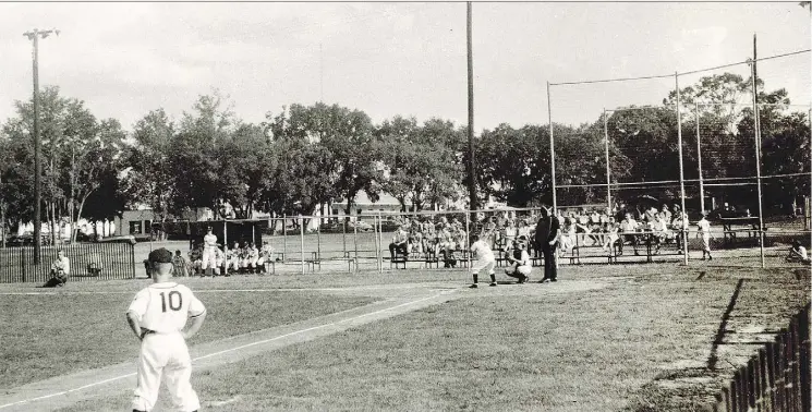
<path fill-rule="evenodd" d="M 759 349 L 716 397 L 714 411 L 810 411 L 810 305 Z"/>

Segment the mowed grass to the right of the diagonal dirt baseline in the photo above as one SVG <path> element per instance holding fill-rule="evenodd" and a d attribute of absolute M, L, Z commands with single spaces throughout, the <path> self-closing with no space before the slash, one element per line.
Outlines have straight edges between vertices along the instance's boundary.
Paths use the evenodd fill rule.
<path fill-rule="evenodd" d="M 571 279 L 606 287 L 555 292 Z M 209 411 L 702 410 L 715 384 L 681 402 L 652 384 L 707 362 L 739 279 L 734 313 L 772 327 L 809 301 L 809 276 L 792 270 L 571 267 L 558 283 L 460 290 L 441 305 L 196 371 L 193 385 Z M 719 367 L 716 381 L 734 365 Z M 166 393 L 159 403 L 168 410 Z"/>

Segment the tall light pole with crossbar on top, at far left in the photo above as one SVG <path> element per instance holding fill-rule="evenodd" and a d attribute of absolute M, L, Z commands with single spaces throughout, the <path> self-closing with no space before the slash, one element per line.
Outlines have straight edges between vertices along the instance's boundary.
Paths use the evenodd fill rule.
<path fill-rule="evenodd" d="M 40 221 L 40 207 L 43 203 L 40 174 L 43 167 L 39 163 L 39 38 L 46 38 L 51 34 L 59 36 L 59 31 L 40 31 L 35 28 L 23 33 L 23 36 L 34 41 L 34 265 L 39 265 L 40 263 L 40 249 L 43 246 L 43 240 L 39 233 L 43 227 L 43 222 Z"/>

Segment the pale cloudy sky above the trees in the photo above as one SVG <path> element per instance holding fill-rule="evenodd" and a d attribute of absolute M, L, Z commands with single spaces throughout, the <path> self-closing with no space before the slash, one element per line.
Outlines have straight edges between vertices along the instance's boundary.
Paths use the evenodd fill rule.
<path fill-rule="evenodd" d="M 548 123 L 547 82 L 688 72 L 810 48 L 809 11 L 783 3 L 473 4 L 474 130 Z M 173 119 L 214 89 L 245 122 L 291 104 L 339 104 L 468 123 L 465 3 L 0 3 L 0 121 L 31 98 L 32 28 L 40 86 L 84 100 L 126 130 Z M 759 64 L 767 89 L 810 104 L 811 53 Z M 746 65 L 726 69 L 747 77 Z M 679 76 L 681 87 L 716 70 Z M 656 105 L 675 78 L 554 85 L 557 123 Z"/>

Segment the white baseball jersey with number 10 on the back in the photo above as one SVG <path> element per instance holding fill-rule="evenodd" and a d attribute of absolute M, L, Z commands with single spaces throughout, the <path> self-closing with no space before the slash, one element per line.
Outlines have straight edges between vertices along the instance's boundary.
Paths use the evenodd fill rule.
<path fill-rule="evenodd" d="M 185 286 L 160 282 L 135 294 L 130 311 L 138 316 L 141 327 L 158 334 L 172 334 L 181 331 L 189 317 L 203 315 L 206 307 Z"/>

